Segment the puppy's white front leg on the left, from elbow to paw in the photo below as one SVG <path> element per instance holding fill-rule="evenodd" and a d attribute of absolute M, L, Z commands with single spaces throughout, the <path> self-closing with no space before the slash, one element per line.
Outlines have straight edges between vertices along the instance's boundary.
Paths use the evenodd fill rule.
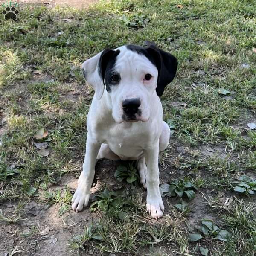
<path fill-rule="evenodd" d="M 72 209 L 79 212 L 87 206 L 90 197 L 90 187 L 95 174 L 96 157 L 101 143 L 94 140 L 89 132 L 87 133 L 86 150 L 83 163 L 83 171 L 78 179 L 78 186 L 72 198 Z"/>

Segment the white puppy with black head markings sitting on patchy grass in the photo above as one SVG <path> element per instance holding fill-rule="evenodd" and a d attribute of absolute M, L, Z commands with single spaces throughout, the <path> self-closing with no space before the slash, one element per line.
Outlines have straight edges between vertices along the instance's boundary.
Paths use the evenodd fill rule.
<path fill-rule="evenodd" d="M 147 211 L 163 216 L 158 154 L 169 144 L 159 97 L 174 79 L 175 56 L 154 44 L 105 49 L 82 64 L 84 78 L 95 90 L 87 115 L 83 170 L 72 198 L 72 209 L 87 206 L 100 158 L 137 160 L 140 183 L 147 188 Z"/>

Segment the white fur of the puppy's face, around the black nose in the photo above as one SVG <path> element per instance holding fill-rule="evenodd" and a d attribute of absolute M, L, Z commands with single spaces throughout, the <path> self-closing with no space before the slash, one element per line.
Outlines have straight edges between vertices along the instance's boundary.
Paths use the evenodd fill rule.
<path fill-rule="evenodd" d="M 157 87 L 158 71 L 154 64 L 143 54 L 126 49 L 120 50 L 116 58 L 114 70 L 119 73 L 121 81 L 111 86 L 109 93 L 112 102 L 112 116 L 116 122 L 123 122 L 124 111 L 122 101 L 125 99 L 140 99 L 141 105 L 136 119 L 147 122 L 150 116 L 150 98 Z M 150 81 L 145 80 L 145 75 L 150 74 Z"/>

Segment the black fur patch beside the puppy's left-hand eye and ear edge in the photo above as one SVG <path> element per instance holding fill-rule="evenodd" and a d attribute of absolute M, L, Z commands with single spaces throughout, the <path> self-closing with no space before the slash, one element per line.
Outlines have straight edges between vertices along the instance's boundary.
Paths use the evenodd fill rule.
<path fill-rule="evenodd" d="M 110 81 L 111 76 L 117 75 L 114 71 L 116 64 L 116 57 L 120 51 L 113 51 L 109 48 L 105 49 L 99 58 L 99 76 L 102 78 L 103 83 L 106 85 L 106 90 L 111 91 L 111 85 L 118 84 Z"/>

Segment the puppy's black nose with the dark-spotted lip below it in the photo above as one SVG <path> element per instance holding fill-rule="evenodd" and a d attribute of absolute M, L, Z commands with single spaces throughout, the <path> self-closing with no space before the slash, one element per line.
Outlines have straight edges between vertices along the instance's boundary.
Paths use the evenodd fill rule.
<path fill-rule="evenodd" d="M 140 116 L 141 114 L 141 111 L 139 110 L 140 104 L 141 102 L 139 98 L 130 98 L 123 100 L 123 119 L 130 122 L 137 121 L 136 116 Z"/>

